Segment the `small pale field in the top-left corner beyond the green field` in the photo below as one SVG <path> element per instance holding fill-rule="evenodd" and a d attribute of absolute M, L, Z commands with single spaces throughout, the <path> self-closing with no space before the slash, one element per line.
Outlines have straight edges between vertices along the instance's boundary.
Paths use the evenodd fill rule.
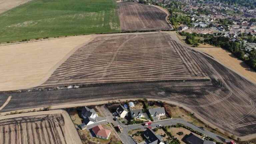
<path fill-rule="evenodd" d="M 19 5 L 29 2 L 29 1 L 31 1 L 31 0 L 1 0 L 0 1 L 0 14 L 9 9 L 15 8 Z"/>

